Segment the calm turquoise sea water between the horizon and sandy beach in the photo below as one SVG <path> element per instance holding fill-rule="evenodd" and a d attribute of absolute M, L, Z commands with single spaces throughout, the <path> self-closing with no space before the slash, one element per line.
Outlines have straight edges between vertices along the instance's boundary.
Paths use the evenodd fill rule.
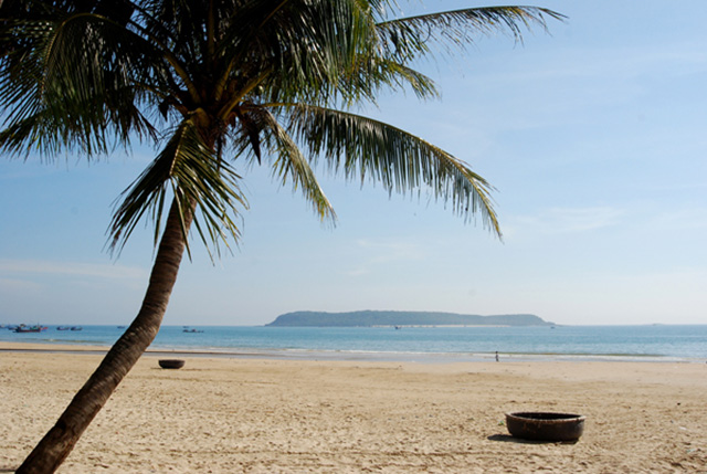
<path fill-rule="evenodd" d="M 550 327 L 264 327 L 202 326 L 184 333 L 163 326 L 150 347 L 163 351 L 219 352 L 304 359 L 462 361 L 493 360 L 658 360 L 707 361 L 707 325 Z M 0 340 L 112 345 L 116 326 L 15 334 Z"/>

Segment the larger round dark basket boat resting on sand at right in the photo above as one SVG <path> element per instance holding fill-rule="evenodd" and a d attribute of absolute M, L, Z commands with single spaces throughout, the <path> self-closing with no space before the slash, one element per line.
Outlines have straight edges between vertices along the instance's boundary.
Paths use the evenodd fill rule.
<path fill-rule="evenodd" d="M 506 413 L 506 426 L 515 438 L 535 441 L 577 441 L 584 431 L 584 417 L 571 413 Z"/>

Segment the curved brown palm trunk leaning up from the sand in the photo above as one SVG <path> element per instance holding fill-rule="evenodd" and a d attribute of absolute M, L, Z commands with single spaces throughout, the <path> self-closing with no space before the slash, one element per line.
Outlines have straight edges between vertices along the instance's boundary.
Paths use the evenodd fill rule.
<path fill-rule="evenodd" d="M 193 206 L 191 212 L 184 215 L 187 230 L 191 227 L 192 218 Z M 53 473 L 74 449 L 84 430 L 157 336 L 177 281 L 184 246 L 177 203 L 172 201 L 137 317 L 17 473 Z"/>

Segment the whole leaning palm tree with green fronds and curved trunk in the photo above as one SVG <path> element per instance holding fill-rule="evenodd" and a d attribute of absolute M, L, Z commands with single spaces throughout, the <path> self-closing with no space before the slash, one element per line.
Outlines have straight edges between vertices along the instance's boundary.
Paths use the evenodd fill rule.
<path fill-rule="evenodd" d="M 390 192 L 426 188 L 500 235 L 490 186 L 471 168 L 390 125 L 351 113 L 383 89 L 425 98 L 411 67 L 474 34 L 546 28 L 552 11 L 466 9 L 395 18 L 393 0 L 4 0 L 0 3 L 0 149 L 87 159 L 162 144 L 122 197 L 109 228 L 118 251 L 138 221 L 157 253 L 143 306 L 19 473 L 53 472 L 160 327 L 190 230 L 219 255 L 238 241 L 239 188 L 270 166 L 323 220 L 336 215 L 313 167 Z M 168 209 L 166 204 L 169 204 Z"/>

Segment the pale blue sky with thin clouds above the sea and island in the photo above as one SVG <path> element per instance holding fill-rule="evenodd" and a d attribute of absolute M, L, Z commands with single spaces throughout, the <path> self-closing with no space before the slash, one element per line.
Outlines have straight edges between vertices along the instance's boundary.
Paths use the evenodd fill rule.
<path fill-rule="evenodd" d="M 400 2 L 407 14 L 489 6 Z M 323 225 L 267 169 L 245 175 L 233 254 L 192 240 L 163 324 L 263 325 L 294 310 L 531 313 L 564 325 L 707 324 L 707 2 L 538 0 L 568 17 L 523 44 L 479 36 L 420 69 L 439 101 L 367 115 L 495 187 L 503 240 L 425 194 L 319 169 Z M 138 227 L 106 251 L 114 202 L 155 155 L 0 157 L 0 323 L 128 324 L 154 259 Z"/>

